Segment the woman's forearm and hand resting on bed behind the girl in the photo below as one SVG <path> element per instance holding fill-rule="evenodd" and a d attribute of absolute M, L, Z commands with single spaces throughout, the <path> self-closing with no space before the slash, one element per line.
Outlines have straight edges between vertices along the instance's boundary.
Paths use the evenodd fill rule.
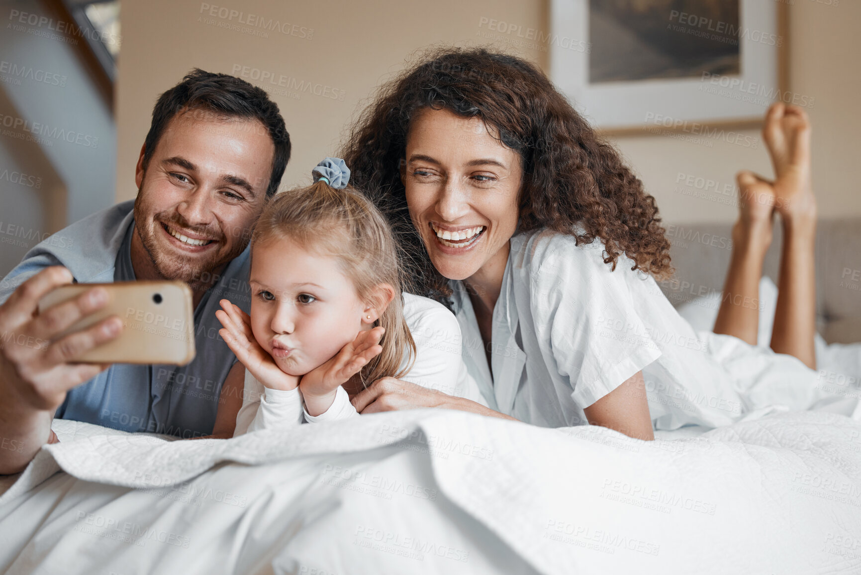
<path fill-rule="evenodd" d="M 504 413 L 499 413 L 499 411 L 494 411 L 464 397 L 449 396 L 448 393 L 429 390 L 421 385 L 395 378 L 378 379 L 367 389 L 359 391 L 353 397 L 352 403 L 356 411 L 362 415 L 380 411 L 437 407 L 517 421 L 514 417 L 506 416 Z"/>

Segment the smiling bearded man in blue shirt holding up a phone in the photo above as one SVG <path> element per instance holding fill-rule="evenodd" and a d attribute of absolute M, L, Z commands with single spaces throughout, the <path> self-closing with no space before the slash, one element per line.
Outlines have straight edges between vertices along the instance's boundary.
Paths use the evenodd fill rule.
<path fill-rule="evenodd" d="M 0 450 L 0 474 L 56 441 L 55 416 L 185 438 L 232 431 L 241 397 L 222 397 L 235 409 L 215 416 L 222 387 L 241 395 L 244 371 L 218 336 L 215 309 L 222 297 L 250 309 L 250 230 L 289 156 L 277 105 L 243 80 L 195 70 L 159 97 L 137 198 L 55 234 L 66 241 L 41 242 L 0 282 L 0 436 L 14 446 Z M 106 303 L 102 288 L 37 311 L 40 297 L 73 280 L 162 279 L 194 293 L 197 355 L 187 366 L 70 362 L 121 331 L 111 317 L 54 341 Z"/>

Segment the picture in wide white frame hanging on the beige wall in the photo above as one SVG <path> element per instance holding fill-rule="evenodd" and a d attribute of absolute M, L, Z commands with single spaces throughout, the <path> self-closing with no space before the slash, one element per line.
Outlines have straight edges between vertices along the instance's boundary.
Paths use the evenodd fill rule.
<path fill-rule="evenodd" d="M 551 78 L 603 131 L 761 122 L 786 99 L 778 10 L 771 0 L 551 0 Z"/>

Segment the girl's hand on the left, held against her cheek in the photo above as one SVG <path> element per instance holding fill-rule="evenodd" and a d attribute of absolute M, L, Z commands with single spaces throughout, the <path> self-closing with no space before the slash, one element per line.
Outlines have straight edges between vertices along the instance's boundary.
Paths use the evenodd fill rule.
<path fill-rule="evenodd" d="M 299 384 L 299 378 L 282 372 L 275 359 L 260 347 L 251 331 L 251 317 L 226 299 L 219 303 L 221 309 L 215 312 L 215 317 L 224 328 L 218 333 L 245 369 L 251 372 L 263 387 L 282 391 L 294 390 Z"/>

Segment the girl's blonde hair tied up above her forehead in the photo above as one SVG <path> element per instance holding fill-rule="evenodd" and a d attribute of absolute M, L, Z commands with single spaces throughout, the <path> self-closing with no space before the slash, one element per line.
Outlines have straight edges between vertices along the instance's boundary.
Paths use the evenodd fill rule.
<path fill-rule="evenodd" d="M 404 319 L 398 245 L 379 209 L 351 186 L 336 190 L 323 180 L 283 191 L 263 209 L 251 235 L 251 249 L 282 238 L 337 258 L 341 272 L 352 280 L 362 302 L 379 307 L 373 297 L 375 286 L 389 284 L 394 288 L 394 299 L 375 322 L 386 329 L 380 341 L 382 352 L 362 367 L 360 377 L 367 387 L 380 378 L 406 375 L 416 359 L 416 344 Z M 405 352 L 409 361 L 398 371 Z"/>

